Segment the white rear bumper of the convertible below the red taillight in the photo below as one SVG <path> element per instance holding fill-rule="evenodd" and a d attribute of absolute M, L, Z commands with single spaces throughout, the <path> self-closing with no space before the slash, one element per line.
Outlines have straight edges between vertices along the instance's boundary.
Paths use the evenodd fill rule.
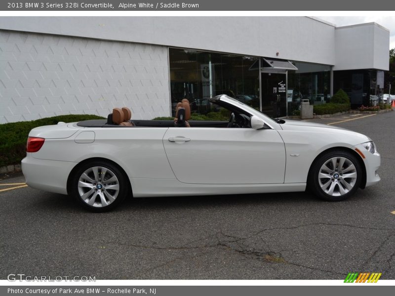
<path fill-rule="evenodd" d="M 77 162 L 37 159 L 32 153 L 22 159 L 26 184 L 32 188 L 67 194 L 67 179 Z"/>

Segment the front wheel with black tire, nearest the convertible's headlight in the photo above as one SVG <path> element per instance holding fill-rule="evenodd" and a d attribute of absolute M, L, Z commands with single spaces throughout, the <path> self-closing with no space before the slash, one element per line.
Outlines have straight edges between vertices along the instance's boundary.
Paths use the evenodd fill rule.
<path fill-rule="evenodd" d="M 361 183 L 362 174 L 361 164 L 354 154 L 342 150 L 330 151 L 314 162 L 308 187 L 321 199 L 341 201 L 355 193 Z"/>

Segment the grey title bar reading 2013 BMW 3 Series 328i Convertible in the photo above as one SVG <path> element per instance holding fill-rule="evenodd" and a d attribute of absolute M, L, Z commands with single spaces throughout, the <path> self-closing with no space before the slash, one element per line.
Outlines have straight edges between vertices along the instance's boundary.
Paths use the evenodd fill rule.
<path fill-rule="evenodd" d="M 391 11 L 388 0 L 6 0 L 2 11 Z"/>

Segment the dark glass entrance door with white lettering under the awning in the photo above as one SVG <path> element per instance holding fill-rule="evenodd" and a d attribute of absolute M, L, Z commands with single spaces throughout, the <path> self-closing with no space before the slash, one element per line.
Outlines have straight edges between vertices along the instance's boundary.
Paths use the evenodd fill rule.
<path fill-rule="evenodd" d="M 286 116 L 286 72 L 263 72 L 261 75 L 262 112 L 274 118 Z"/>

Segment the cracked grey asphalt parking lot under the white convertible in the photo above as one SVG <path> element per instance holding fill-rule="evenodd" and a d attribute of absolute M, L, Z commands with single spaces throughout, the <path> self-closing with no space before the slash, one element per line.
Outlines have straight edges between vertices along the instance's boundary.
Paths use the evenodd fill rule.
<path fill-rule="evenodd" d="M 0 279 L 395 279 L 395 112 L 313 121 L 372 138 L 382 181 L 343 202 L 304 192 L 143 198 L 94 214 L 6 176 Z"/>

